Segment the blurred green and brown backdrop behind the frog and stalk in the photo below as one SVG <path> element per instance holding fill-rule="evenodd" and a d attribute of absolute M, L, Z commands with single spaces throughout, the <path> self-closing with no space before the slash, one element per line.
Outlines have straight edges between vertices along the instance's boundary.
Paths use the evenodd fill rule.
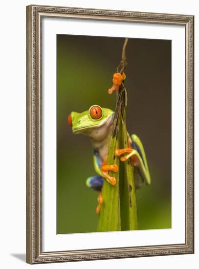
<path fill-rule="evenodd" d="M 57 35 L 57 234 L 97 229 L 98 192 L 86 186 L 93 149 L 67 115 L 94 104 L 114 110 L 108 89 L 123 42 Z M 152 179 L 136 192 L 139 229 L 171 228 L 171 41 L 129 39 L 126 56 L 127 128 L 143 142 Z"/>

